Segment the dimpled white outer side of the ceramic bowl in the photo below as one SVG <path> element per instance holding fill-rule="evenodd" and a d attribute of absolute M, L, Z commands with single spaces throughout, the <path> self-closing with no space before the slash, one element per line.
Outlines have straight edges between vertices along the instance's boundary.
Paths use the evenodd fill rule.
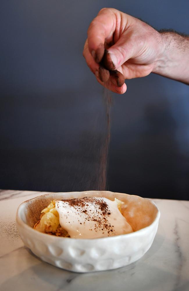
<path fill-rule="evenodd" d="M 116 269 L 140 259 L 154 240 L 160 217 L 158 211 L 149 226 L 125 235 L 98 239 L 63 238 L 40 233 L 28 225 L 26 213 L 31 200 L 22 203 L 17 210 L 16 224 L 22 241 L 43 261 L 72 272 Z M 154 202 L 151 203 L 156 207 Z"/>

